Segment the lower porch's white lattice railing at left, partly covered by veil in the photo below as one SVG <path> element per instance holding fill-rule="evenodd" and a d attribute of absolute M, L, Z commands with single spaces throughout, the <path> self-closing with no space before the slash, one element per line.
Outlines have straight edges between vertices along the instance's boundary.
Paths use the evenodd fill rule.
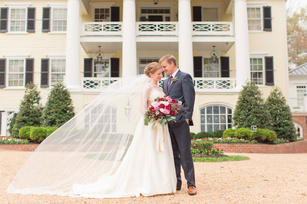
<path fill-rule="evenodd" d="M 83 89 L 102 89 L 107 85 L 120 80 L 120 77 L 105 77 L 105 78 L 97 78 L 97 77 L 84 77 L 82 80 L 82 88 Z"/>

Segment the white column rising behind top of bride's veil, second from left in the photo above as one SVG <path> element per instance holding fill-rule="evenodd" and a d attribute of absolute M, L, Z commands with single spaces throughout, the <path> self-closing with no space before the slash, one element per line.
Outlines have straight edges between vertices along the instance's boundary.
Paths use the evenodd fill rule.
<path fill-rule="evenodd" d="M 137 74 L 135 0 L 123 0 L 122 77 Z"/>

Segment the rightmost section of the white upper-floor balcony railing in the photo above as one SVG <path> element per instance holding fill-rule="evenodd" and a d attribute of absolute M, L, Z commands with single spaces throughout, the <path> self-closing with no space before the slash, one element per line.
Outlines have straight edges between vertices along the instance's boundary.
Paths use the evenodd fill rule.
<path fill-rule="evenodd" d="M 232 22 L 192 22 L 192 35 L 233 35 Z"/>

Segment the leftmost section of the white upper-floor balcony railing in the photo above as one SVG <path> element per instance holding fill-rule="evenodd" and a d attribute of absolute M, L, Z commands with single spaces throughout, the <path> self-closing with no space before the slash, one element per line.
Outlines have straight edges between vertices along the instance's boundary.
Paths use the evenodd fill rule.
<path fill-rule="evenodd" d="M 82 35 L 122 35 L 122 22 L 84 22 Z"/>

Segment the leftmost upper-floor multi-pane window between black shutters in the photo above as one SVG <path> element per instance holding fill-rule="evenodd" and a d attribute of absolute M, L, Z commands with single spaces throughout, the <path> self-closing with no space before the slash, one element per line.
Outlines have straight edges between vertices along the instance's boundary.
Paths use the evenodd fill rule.
<path fill-rule="evenodd" d="M 10 31 L 18 32 L 25 31 L 25 23 L 26 23 L 26 9 L 22 8 L 12 8 L 10 9 Z"/>

